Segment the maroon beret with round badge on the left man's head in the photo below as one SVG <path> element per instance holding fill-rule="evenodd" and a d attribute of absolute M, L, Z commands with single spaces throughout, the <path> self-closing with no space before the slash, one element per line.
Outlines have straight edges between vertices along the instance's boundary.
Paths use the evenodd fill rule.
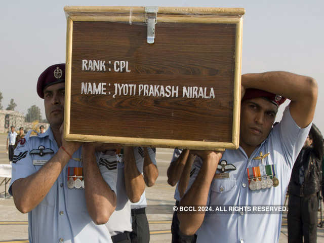
<path fill-rule="evenodd" d="M 38 77 L 37 94 L 44 99 L 44 89 L 50 85 L 65 82 L 65 63 L 55 64 L 45 69 Z"/>

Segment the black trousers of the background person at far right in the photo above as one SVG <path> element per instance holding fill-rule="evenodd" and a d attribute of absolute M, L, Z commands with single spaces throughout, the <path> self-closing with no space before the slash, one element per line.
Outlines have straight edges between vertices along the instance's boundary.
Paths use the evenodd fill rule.
<path fill-rule="evenodd" d="M 300 197 L 289 194 L 288 202 L 288 242 L 316 242 L 318 197 L 313 194 Z"/>

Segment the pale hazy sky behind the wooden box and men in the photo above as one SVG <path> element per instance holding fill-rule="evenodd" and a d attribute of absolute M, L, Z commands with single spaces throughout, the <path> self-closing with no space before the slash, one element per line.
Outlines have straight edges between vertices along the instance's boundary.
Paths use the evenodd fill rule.
<path fill-rule="evenodd" d="M 0 15 L 0 92 L 4 109 L 13 98 L 15 110 L 26 114 L 30 106 L 37 105 L 45 118 L 36 83 L 48 66 L 65 62 L 64 6 L 245 8 L 242 73 L 283 70 L 314 77 L 319 88 L 314 123 L 324 132 L 322 0 L 6 1 Z"/>

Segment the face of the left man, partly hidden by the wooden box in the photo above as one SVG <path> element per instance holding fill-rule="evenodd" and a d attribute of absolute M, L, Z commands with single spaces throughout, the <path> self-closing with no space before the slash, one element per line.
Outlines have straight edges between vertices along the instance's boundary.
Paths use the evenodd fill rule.
<path fill-rule="evenodd" d="M 51 127 L 60 128 L 64 119 L 64 89 L 65 84 L 51 85 L 44 90 L 44 105 L 46 118 Z"/>

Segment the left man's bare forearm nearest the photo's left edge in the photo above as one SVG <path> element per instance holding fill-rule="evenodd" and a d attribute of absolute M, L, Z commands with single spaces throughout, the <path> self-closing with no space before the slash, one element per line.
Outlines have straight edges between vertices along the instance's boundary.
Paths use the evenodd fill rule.
<path fill-rule="evenodd" d="M 69 155 L 60 148 L 36 173 L 26 178 L 18 179 L 12 184 L 14 202 L 20 212 L 28 213 L 41 203 L 59 177 L 69 158 Z"/>

